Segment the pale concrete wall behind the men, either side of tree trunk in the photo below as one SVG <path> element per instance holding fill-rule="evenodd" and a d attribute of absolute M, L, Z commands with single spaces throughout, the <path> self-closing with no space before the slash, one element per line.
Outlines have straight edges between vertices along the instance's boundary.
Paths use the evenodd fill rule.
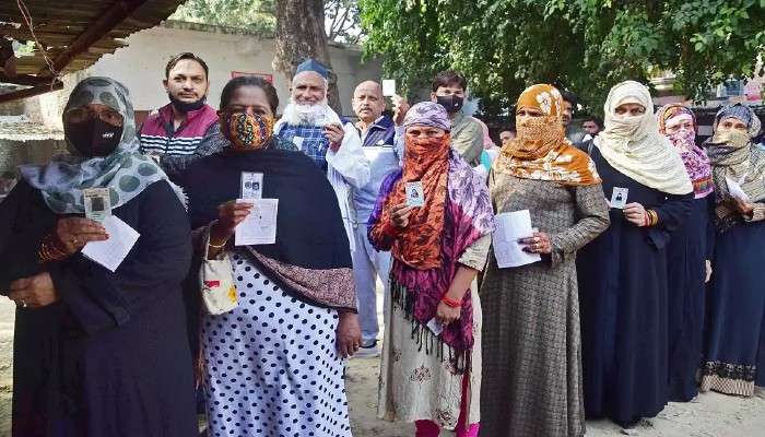
<path fill-rule="evenodd" d="M 170 27 L 170 25 L 173 27 Z M 128 47 L 114 55 L 105 55 L 87 70 L 89 75 L 107 75 L 122 82 L 132 96 L 137 110 L 152 110 L 167 104 L 162 86 L 165 64 L 181 51 L 191 51 L 210 68 L 210 92 L 208 102 L 217 108 L 221 91 L 232 78 L 233 71 L 273 75 L 279 93 L 280 107 L 289 98 L 289 84 L 282 74 L 273 71 L 274 40 L 255 35 L 226 33 L 213 26 L 170 23 L 131 35 Z M 351 97 L 358 82 L 380 79 L 379 62 L 361 63 L 356 48 L 330 48 L 332 68 L 338 74 L 343 115 L 351 116 Z"/>

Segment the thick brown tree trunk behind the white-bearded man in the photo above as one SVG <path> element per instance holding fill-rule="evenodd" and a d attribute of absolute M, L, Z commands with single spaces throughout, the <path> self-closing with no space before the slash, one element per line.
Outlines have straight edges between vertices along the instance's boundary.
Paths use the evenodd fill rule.
<path fill-rule="evenodd" d="M 327 33 L 325 32 L 323 0 L 276 0 L 276 50 L 273 69 L 292 82 L 297 64 L 314 58 L 330 69 L 327 99 L 329 106 L 342 116 L 338 76 L 331 71 Z"/>

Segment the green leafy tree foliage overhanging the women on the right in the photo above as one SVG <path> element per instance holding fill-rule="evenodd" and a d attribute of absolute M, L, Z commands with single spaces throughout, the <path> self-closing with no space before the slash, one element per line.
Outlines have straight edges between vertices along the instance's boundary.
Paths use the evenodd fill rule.
<path fill-rule="evenodd" d="M 765 52 L 765 0 L 358 0 L 367 57 L 410 88 L 462 70 L 483 111 L 507 110 L 549 82 L 600 106 L 625 79 L 671 71 L 697 101 L 751 78 Z M 600 108 L 598 108 L 600 109 Z"/>

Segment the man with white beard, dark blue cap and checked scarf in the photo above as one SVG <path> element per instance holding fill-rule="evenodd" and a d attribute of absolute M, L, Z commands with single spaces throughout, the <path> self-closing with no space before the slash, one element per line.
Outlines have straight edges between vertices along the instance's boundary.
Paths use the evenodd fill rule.
<path fill-rule="evenodd" d="M 356 128 L 342 120 L 327 104 L 328 75 L 327 68 L 314 59 L 297 66 L 290 88 L 290 104 L 273 127 L 273 133 L 295 144 L 327 172 L 353 251 L 351 190 L 369 181 L 369 162 L 364 156 Z"/>

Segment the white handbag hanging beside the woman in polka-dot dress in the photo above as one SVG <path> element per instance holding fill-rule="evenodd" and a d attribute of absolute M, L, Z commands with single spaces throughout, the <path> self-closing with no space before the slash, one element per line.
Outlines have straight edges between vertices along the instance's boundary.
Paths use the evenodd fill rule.
<path fill-rule="evenodd" d="M 199 269 L 199 282 L 204 310 L 212 316 L 219 316 L 236 308 L 239 303 L 228 256 L 223 252 L 221 259 L 208 259 L 209 248 L 210 229 L 208 228 L 204 233 L 204 259 Z"/>

